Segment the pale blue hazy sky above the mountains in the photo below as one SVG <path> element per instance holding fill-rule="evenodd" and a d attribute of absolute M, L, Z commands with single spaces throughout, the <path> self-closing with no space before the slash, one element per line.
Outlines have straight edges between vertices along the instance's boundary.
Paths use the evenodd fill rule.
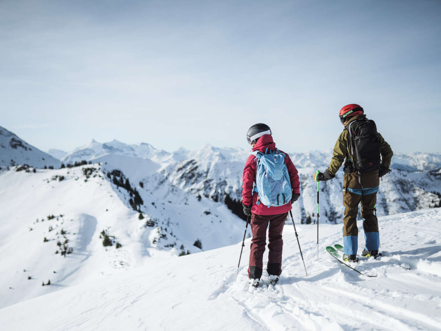
<path fill-rule="evenodd" d="M 333 147 L 359 103 L 396 152 L 441 151 L 441 1 L 0 0 L 0 125 L 100 142 Z"/>

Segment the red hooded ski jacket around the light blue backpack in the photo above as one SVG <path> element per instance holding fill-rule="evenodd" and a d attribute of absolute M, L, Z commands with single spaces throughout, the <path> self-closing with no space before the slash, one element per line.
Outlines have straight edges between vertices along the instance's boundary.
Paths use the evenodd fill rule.
<path fill-rule="evenodd" d="M 273 137 L 271 135 L 262 135 L 261 138 L 259 138 L 257 144 L 253 147 L 253 152 L 260 151 L 262 153 L 265 153 L 266 148 L 269 147 L 271 151 L 276 149 L 276 143 L 273 141 Z M 294 164 L 292 163 L 291 159 L 289 158 L 289 155 L 283 151 L 280 150 L 280 153 L 285 154 L 285 163 L 286 167 L 288 168 L 289 173 L 289 179 L 291 182 L 291 188 L 292 192 L 295 194 L 299 194 L 299 175 L 297 169 L 295 169 Z M 247 159 L 247 164 L 245 165 L 245 168 L 243 169 L 243 176 L 242 176 L 242 202 L 244 205 L 251 207 L 251 212 L 258 215 L 277 215 L 277 214 L 284 214 L 291 210 L 291 201 L 284 204 L 283 206 L 278 207 L 269 207 L 265 206 L 262 202 L 260 204 L 256 204 L 257 202 L 257 192 L 253 192 L 253 184 L 256 181 L 256 168 L 257 168 L 257 162 L 256 162 L 256 156 L 250 155 Z"/>

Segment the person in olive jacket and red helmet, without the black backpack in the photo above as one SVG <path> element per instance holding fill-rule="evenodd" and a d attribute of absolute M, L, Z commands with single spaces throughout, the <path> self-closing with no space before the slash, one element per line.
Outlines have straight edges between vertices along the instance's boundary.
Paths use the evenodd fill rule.
<path fill-rule="evenodd" d="M 361 203 L 361 217 L 363 218 L 363 229 L 365 233 L 365 249 L 362 255 L 377 256 L 380 237 L 378 233 L 378 220 L 374 214 L 374 206 L 377 202 L 377 191 L 379 177 L 389 173 L 389 166 L 392 159 L 392 149 L 380 133 L 376 132 L 381 154 L 380 169 L 376 168 L 369 172 L 359 172 L 354 167 L 354 155 L 351 153 L 351 139 L 348 128 L 355 121 L 366 119 L 364 110 L 357 104 L 344 106 L 339 113 L 340 121 L 345 129 L 337 139 L 334 147 L 333 158 L 328 169 L 324 173 L 314 173 L 314 181 L 328 181 L 335 177 L 337 170 L 344 162 L 343 179 L 343 243 L 344 260 L 356 262 L 358 248 L 357 212 Z M 351 124 L 352 123 L 352 124 Z"/>

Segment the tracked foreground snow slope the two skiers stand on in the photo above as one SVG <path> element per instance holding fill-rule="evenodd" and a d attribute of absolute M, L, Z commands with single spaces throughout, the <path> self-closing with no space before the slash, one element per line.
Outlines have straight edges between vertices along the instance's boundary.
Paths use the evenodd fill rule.
<path fill-rule="evenodd" d="M 331 224 L 320 227 L 318 261 L 316 228 L 297 225 L 306 276 L 286 224 L 283 271 L 274 288 L 249 287 L 247 239 L 236 283 L 240 243 L 150 260 L 3 308 L 2 330 L 440 330 L 441 209 L 383 217 L 379 224 L 383 256 L 357 265 L 377 277 L 328 255 L 325 246 L 341 242 L 341 226 Z M 359 229 L 361 250 L 361 221 Z"/>

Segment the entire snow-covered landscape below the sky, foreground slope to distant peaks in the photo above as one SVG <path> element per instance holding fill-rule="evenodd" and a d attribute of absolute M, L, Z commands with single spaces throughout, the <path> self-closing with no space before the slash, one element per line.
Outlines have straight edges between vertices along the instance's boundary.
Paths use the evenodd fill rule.
<path fill-rule="evenodd" d="M 299 170 L 301 197 L 292 212 L 308 276 L 288 218 L 280 282 L 254 289 L 247 281 L 250 230 L 234 283 L 245 223 L 222 203 L 225 194 L 240 199 L 250 150 L 206 144 L 168 153 L 92 139 L 63 162 L 93 164 L 57 169 L 59 160 L 12 132 L 0 128 L 0 139 L 4 164 L 56 168 L 0 169 L 2 331 L 441 328 L 441 209 L 426 209 L 440 203 L 441 153 L 392 159 L 395 168 L 377 195 L 383 256 L 356 266 L 374 278 L 325 252 L 342 243 L 341 224 L 330 224 L 343 214 L 342 171 L 320 183 L 317 261 L 317 227 L 299 223 L 316 219 L 311 175 L 332 153 L 289 153 Z M 143 201 L 137 211 L 135 192 Z M 361 252 L 361 221 L 359 229 Z M 103 231 L 112 246 L 103 246 Z M 72 249 L 65 257 L 63 244 Z"/>

